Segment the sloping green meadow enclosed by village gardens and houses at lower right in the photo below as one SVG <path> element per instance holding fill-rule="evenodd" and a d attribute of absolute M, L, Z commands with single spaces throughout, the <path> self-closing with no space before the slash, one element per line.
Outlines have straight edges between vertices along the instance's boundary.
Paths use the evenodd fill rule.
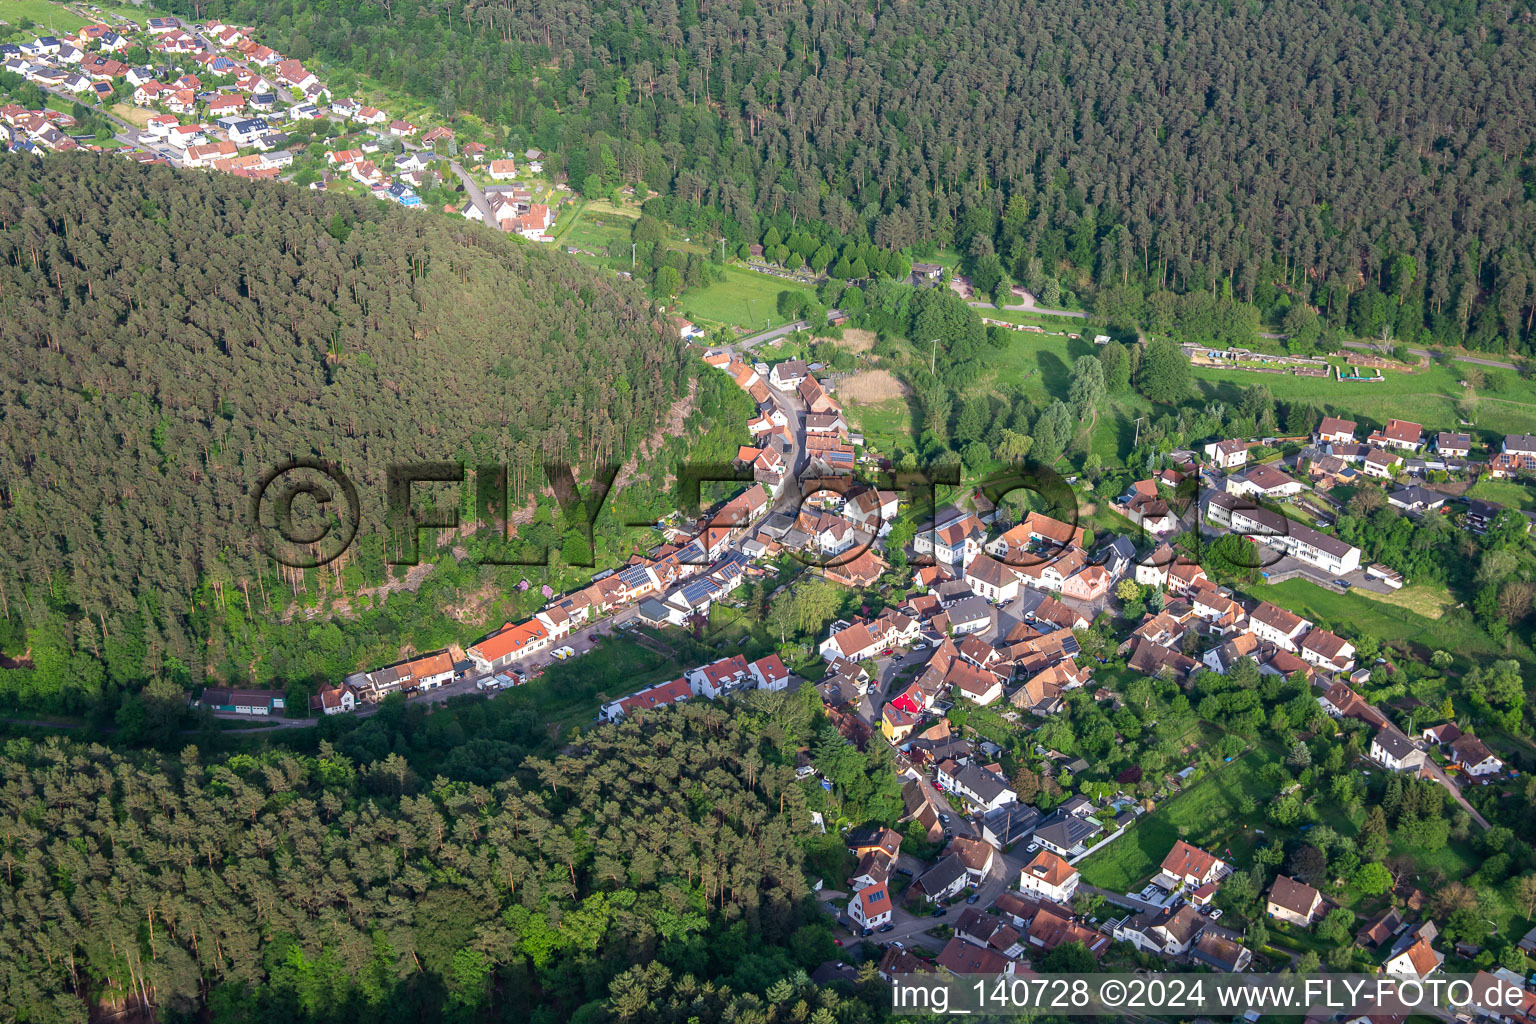
<path fill-rule="evenodd" d="M 1263 803 L 1273 786 L 1260 777 L 1264 754 L 1252 751 L 1223 765 L 1184 792 L 1167 798 L 1118 840 L 1078 864 L 1083 881 L 1111 892 L 1134 892 L 1152 875 L 1174 843 L 1186 843 L 1224 857 L 1230 847 L 1236 863 L 1256 844 L 1253 829 L 1238 824 L 1243 797 Z"/>

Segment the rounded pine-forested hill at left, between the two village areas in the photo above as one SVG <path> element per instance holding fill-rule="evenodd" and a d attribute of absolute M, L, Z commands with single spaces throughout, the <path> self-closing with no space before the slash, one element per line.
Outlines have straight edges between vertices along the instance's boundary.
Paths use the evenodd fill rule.
<path fill-rule="evenodd" d="M 103 665 L 201 682 L 210 634 L 243 629 L 226 593 L 283 611 L 249 516 L 270 467 L 335 461 L 364 524 L 393 462 L 504 464 L 527 494 L 545 459 L 622 462 L 688 373 L 637 290 L 550 249 L 226 175 L 3 157 L 0 646 L 31 649 L 23 689 L 92 692 Z M 233 660 L 275 654 L 253 646 Z"/>

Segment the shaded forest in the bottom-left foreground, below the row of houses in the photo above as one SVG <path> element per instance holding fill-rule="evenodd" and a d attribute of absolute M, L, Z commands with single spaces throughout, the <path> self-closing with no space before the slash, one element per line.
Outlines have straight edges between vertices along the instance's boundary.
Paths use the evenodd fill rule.
<path fill-rule="evenodd" d="M 604 728 L 495 785 L 329 745 L 204 760 L 12 742 L 0 1007 L 37 1024 L 144 993 L 155 1019 L 221 1024 L 877 1019 L 803 973 L 839 950 L 803 870 L 806 792 L 760 735 L 805 734 L 809 708 L 750 708 Z M 676 999 L 687 1013 L 662 1009 Z"/>

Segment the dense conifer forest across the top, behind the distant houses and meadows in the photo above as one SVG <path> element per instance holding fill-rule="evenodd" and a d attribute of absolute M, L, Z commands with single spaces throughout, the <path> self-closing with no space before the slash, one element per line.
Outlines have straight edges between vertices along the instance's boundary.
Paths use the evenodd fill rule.
<path fill-rule="evenodd" d="M 1356 332 L 1528 347 L 1530 3 L 172 6 L 511 127 L 573 183 L 645 181 L 733 241 L 820 220 L 1335 322 L 1367 292 Z"/>

